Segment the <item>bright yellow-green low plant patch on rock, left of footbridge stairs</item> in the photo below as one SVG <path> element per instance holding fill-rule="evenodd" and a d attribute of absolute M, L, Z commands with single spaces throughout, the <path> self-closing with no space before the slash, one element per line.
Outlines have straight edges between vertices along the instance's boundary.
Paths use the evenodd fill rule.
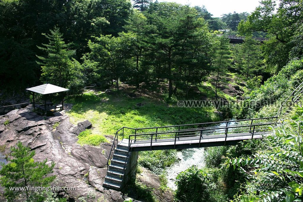
<path fill-rule="evenodd" d="M 91 130 L 85 130 L 78 135 L 78 144 L 89 144 L 97 146 L 102 142 L 107 142 L 103 135 L 92 134 Z"/>

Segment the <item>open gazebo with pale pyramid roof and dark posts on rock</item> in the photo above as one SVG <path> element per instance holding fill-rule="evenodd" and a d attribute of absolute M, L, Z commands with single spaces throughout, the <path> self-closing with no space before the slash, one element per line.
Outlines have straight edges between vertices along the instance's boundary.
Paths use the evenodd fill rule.
<path fill-rule="evenodd" d="M 53 104 L 51 101 L 47 101 L 47 97 L 46 97 L 47 94 L 69 91 L 69 89 L 62 88 L 62 87 L 59 87 L 59 86 L 55 86 L 55 85 L 52 85 L 52 84 L 42 84 L 42 85 L 35 86 L 35 87 L 32 87 L 32 88 L 27 88 L 26 90 L 32 91 L 34 109 L 39 108 L 39 109 L 43 110 L 45 113 L 48 110 L 56 111 L 57 108 L 60 108 L 62 110 L 64 109 L 64 105 L 63 105 L 64 104 L 64 96 L 63 96 L 63 94 L 62 94 L 61 104 Z M 43 102 L 39 103 L 39 104 L 35 103 L 35 93 L 39 93 L 39 94 L 43 95 L 44 103 Z"/>

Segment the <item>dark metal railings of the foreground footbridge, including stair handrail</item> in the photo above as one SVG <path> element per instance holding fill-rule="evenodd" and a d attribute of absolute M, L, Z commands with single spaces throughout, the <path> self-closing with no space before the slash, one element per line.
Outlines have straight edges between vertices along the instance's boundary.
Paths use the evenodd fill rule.
<path fill-rule="evenodd" d="M 202 137 L 215 138 L 220 135 L 222 136 L 223 134 L 227 138 L 228 134 L 250 133 L 253 138 L 255 133 L 259 133 L 264 130 L 268 131 L 268 126 L 275 124 L 276 119 L 277 117 L 267 117 L 146 128 L 122 127 L 115 134 L 112 148 L 108 155 L 107 167 L 115 153 L 119 137 L 122 137 L 121 139 L 128 138 L 129 150 L 131 149 L 131 144 L 137 143 L 138 141 L 150 142 L 150 145 L 152 146 L 154 142 L 165 142 L 168 141 L 167 139 L 175 139 L 176 144 L 178 141 L 181 141 L 181 139 L 184 141 L 186 138 L 200 138 L 201 141 Z M 224 126 L 218 127 L 218 124 Z"/>

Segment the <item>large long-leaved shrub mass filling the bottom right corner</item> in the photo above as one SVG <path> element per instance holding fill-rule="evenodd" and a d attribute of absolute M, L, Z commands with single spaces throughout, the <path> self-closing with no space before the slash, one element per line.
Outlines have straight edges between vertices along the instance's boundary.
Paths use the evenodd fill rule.
<path fill-rule="evenodd" d="M 298 111 L 303 111 L 299 108 Z M 301 113 L 300 112 L 300 113 Z M 249 157 L 230 158 L 227 167 L 246 177 L 236 201 L 303 201 L 303 147 L 301 114 L 274 128 L 274 134 Z"/>

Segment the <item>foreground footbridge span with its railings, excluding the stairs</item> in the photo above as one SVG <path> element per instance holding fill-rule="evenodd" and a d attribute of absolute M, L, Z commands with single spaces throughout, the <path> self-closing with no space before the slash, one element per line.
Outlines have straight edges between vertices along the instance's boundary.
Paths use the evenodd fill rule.
<path fill-rule="evenodd" d="M 277 123 L 276 119 L 269 117 L 150 128 L 123 127 L 118 135 L 128 136 L 121 141 L 128 151 L 234 145 L 271 133 L 270 127 Z"/>

